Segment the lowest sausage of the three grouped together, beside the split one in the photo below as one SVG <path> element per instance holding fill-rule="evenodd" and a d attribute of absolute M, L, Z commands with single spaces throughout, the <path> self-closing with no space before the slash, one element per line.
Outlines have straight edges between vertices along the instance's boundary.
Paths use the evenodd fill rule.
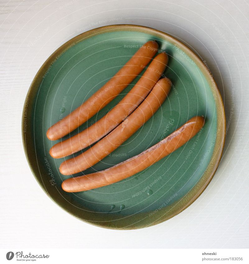
<path fill-rule="evenodd" d="M 144 101 L 128 118 L 87 151 L 77 157 L 65 160 L 60 165 L 60 172 L 64 175 L 78 173 L 109 155 L 153 116 L 166 99 L 170 88 L 171 81 L 169 79 L 160 79 Z"/>

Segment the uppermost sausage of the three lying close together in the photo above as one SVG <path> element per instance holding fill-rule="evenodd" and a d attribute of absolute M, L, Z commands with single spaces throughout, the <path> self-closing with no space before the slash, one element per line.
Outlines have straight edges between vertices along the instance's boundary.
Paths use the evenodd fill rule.
<path fill-rule="evenodd" d="M 157 49 L 156 41 L 146 42 L 104 86 L 81 106 L 50 127 L 47 131 L 48 139 L 57 140 L 64 137 L 94 116 L 142 72 L 143 67 L 156 54 Z"/>

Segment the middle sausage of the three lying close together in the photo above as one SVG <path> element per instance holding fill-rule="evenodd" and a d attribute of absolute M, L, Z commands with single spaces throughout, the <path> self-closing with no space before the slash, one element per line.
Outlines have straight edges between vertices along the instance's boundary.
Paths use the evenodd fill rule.
<path fill-rule="evenodd" d="M 106 136 L 144 100 L 162 76 L 167 62 L 166 53 L 158 54 L 136 85 L 109 113 L 77 135 L 55 144 L 49 151 L 50 155 L 56 159 L 71 155 Z"/>

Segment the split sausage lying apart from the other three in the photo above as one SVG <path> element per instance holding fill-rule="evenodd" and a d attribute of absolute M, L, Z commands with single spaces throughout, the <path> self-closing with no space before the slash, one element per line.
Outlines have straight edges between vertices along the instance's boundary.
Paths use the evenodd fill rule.
<path fill-rule="evenodd" d="M 194 137 L 204 125 L 204 118 L 196 116 L 178 128 L 168 137 L 156 145 L 143 151 L 128 160 L 125 160 L 109 169 L 87 174 L 75 178 L 69 178 L 62 183 L 62 189 L 66 192 L 82 192 L 103 187 L 128 178 L 169 155 L 190 138 Z"/>

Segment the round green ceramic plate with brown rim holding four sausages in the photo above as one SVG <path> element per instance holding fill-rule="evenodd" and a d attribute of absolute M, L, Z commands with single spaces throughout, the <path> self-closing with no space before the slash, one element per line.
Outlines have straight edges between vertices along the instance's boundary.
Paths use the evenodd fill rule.
<path fill-rule="evenodd" d="M 49 141 L 47 129 L 82 104 L 128 61 L 139 45 L 150 39 L 155 39 L 160 49 L 169 54 L 165 75 L 174 85 L 170 95 L 139 131 L 84 174 L 106 169 L 139 154 L 193 116 L 205 117 L 203 130 L 171 155 L 119 183 L 87 192 L 64 192 L 61 183 L 68 176 L 58 170 L 64 159 L 55 160 L 49 155 L 50 147 L 59 141 Z M 104 116 L 138 78 L 72 135 Z M 63 44 L 36 74 L 22 117 L 26 157 L 41 188 L 78 219 L 111 229 L 155 225 L 195 201 L 219 164 L 224 128 L 223 103 L 208 67 L 179 40 L 137 25 L 100 27 Z"/>

